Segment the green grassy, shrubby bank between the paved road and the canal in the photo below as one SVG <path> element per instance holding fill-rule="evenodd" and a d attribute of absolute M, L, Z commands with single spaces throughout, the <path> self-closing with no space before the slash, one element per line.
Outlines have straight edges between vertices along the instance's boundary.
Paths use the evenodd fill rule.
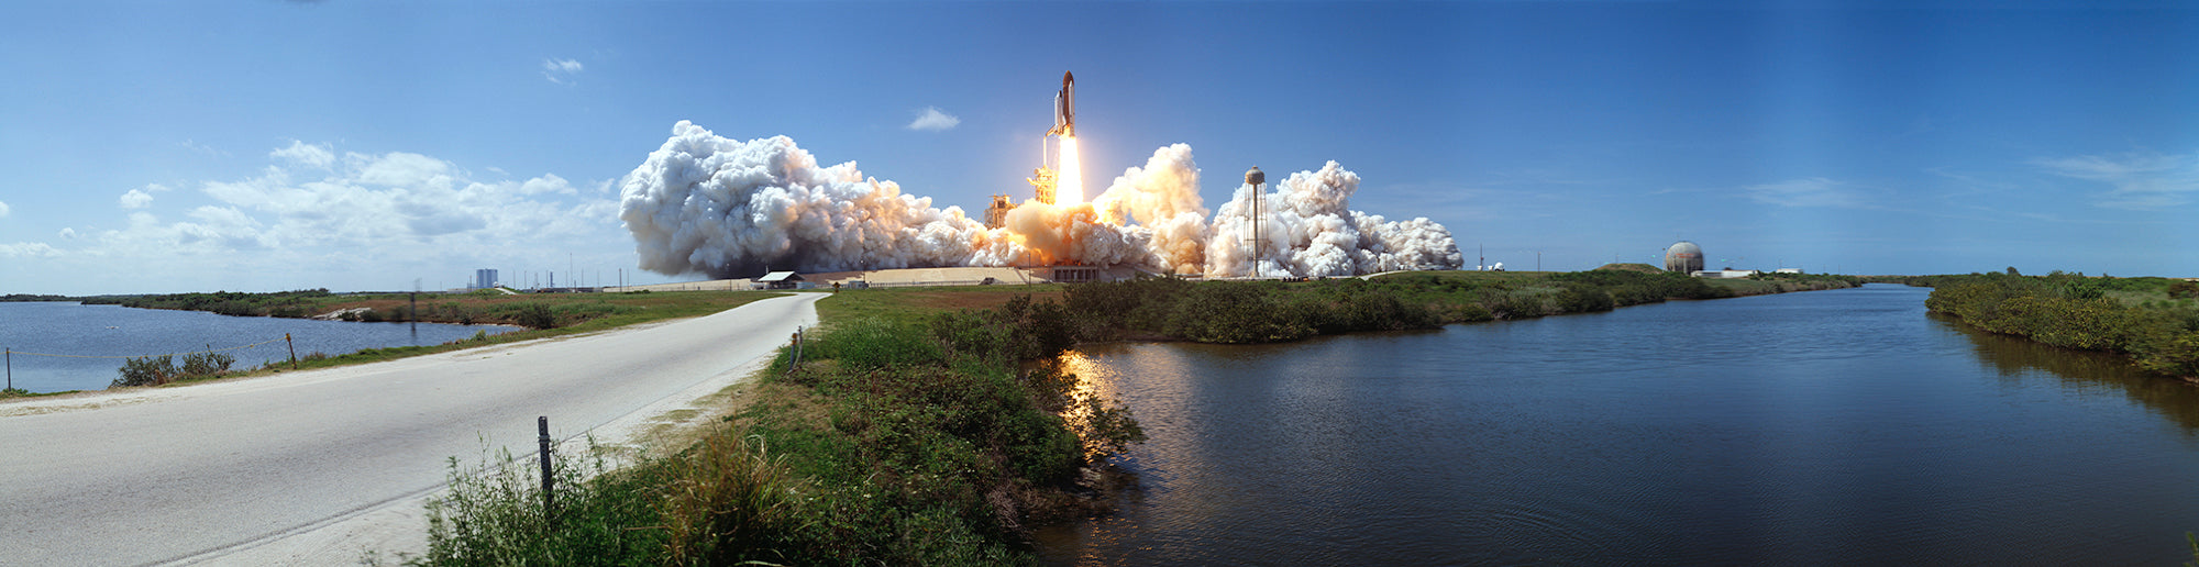
<path fill-rule="evenodd" d="M 1051 299 L 880 312 L 844 292 L 701 440 L 607 470 L 453 468 L 416 565 L 1014 565 L 1027 525 L 1093 510 L 1097 464 L 1143 440 L 1078 389 Z M 1049 308 L 1053 305 L 1053 308 Z"/>

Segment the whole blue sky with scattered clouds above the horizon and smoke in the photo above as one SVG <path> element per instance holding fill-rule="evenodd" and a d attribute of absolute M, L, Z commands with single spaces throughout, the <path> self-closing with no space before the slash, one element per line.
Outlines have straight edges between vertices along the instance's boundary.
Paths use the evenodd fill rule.
<path fill-rule="evenodd" d="M 1086 185 L 1339 160 L 1469 264 L 2199 277 L 2192 9 L 11 2 L 0 292 L 679 281 L 616 220 L 673 123 L 976 211 L 1062 70 Z"/>

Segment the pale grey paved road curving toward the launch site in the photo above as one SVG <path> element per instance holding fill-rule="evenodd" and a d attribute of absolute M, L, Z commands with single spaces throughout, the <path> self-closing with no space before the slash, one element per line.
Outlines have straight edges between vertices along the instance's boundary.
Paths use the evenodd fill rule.
<path fill-rule="evenodd" d="M 814 325 L 818 297 L 380 365 L 0 404 L 0 565 L 165 563 L 420 494 L 444 481 L 449 457 L 532 451 L 534 415 L 572 437 L 726 378 Z"/>

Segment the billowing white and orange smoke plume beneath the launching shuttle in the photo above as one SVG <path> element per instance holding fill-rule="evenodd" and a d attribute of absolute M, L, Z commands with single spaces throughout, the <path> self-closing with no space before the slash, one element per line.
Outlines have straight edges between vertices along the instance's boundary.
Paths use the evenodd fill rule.
<path fill-rule="evenodd" d="M 1003 229 L 985 229 L 961 207 L 932 209 L 930 198 L 864 178 L 855 163 L 818 167 L 787 136 L 743 143 L 679 121 L 627 174 L 618 218 L 640 268 L 664 275 L 1089 264 L 1234 277 L 1256 262 L 1260 275 L 1465 264 L 1443 224 L 1348 211 L 1357 189 L 1359 176 L 1337 163 L 1275 185 L 1260 204 L 1264 246 L 1253 259 L 1251 187 L 1209 220 L 1192 147 L 1181 143 L 1154 149 L 1091 202 L 1025 202 Z"/>

